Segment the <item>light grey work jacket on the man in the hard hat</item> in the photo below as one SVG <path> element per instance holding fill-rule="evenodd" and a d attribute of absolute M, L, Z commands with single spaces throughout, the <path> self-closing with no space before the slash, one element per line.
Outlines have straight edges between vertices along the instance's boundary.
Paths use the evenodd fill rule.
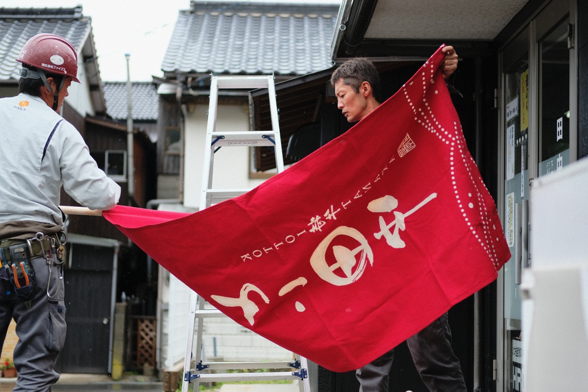
<path fill-rule="evenodd" d="M 21 93 L 0 99 L 0 222 L 62 225 L 62 185 L 90 209 L 111 209 L 121 195 L 78 130 L 41 98 Z"/>

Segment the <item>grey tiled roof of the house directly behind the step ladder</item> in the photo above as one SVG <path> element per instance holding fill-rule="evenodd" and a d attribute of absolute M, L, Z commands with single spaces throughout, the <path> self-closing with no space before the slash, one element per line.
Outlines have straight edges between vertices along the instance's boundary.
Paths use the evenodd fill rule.
<path fill-rule="evenodd" d="M 179 12 L 164 72 L 303 75 L 330 67 L 337 6 L 193 6 Z"/>

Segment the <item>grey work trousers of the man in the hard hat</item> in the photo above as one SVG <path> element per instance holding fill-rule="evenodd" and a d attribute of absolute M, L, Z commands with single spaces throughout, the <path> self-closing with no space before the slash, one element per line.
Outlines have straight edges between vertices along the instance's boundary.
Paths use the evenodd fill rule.
<path fill-rule="evenodd" d="M 53 263 L 58 260 L 53 252 Z M 12 293 L 0 295 L 0 344 L 4 345 L 11 320 L 16 321 L 18 343 L 14 365 L 18 372 L 14 392 L 50 392 L 59 379 L 53 368 L 65 341 L 65 304 L 62 266 L 49 266 L 44 257 L 31 259 L 36 287 L 31 297 L 22 299 Z M 51 298 L 48 297 L 48 286 Z M 30 302 L 29 302 L 30 301 Z M 0 346 L 0 347 L 2 347 Z"/>

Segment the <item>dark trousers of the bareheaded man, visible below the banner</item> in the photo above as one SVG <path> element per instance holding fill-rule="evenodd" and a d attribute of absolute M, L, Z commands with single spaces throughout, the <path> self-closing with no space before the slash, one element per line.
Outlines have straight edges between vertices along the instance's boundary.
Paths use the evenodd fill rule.
<path fill-rule="evenodd" d="M 420 378 L 431 392 L 467 392 L 459 360 L 451 347 L 447 313 L 406 340 Z M 394 350 L 356 371 L 359 392 L 387 392 Z"/>

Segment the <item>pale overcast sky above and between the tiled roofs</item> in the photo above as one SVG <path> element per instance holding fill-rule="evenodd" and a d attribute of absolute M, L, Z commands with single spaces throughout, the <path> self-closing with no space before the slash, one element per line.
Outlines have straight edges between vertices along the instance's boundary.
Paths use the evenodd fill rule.
<path fill-rule="evenodd" d="M 269 2 L 339 4 L 340 0 Z M 162 76 L 161 62 L 178 11 L 190 8 L 190 0 L 0 0 L 2 7 L 71 8 L 78 4 L 82 5 L 83 15 L 92 17 L 102 81 L 126 80 L 125 53 L 131 54 L 133 81 L 151 81 L 152 75 Z"/>

